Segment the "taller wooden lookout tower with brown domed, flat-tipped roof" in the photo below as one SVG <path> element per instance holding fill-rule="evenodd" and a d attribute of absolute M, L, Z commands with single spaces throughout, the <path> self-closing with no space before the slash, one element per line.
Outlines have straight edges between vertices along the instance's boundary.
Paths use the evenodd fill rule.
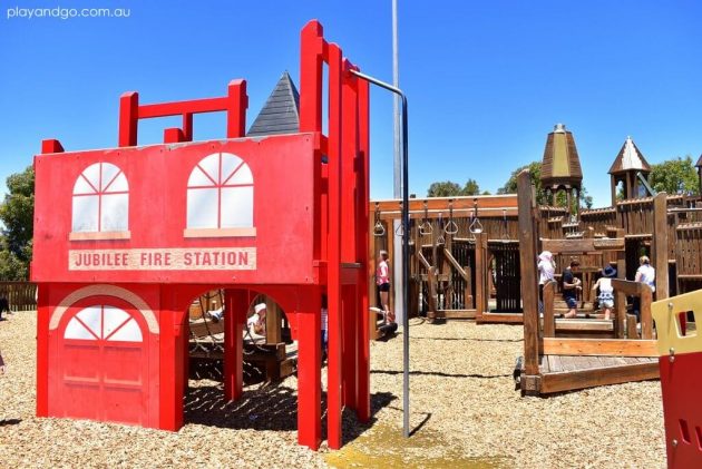
<path fill-rule="evenodd" d="M 556 205 L 559 190 L 566 193 L 567 207 L 572 206 L 573 190 L 575 199 L 579 201 L 583 170 L 573 134 L 566 130 L 564 124 L 556 124 L 546 138 L 540 179 L 542 187 L 550 194 L 552 205 Z"/>

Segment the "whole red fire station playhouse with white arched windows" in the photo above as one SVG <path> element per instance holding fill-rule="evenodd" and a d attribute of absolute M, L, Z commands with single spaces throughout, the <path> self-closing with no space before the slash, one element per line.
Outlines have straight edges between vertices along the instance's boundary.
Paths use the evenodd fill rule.
<path fill-rule="evenodd" d="M 319 447 L 325 293 L 329 446 L 341 446 L 342 407 L 370 418 L 369 91 L 352 68 L 311 21 L 302 30 L 300 133 L 245 138 L 246 82 L 234 80 L 220 98 L 143 105 L 125 94 L 117 148 L 42 143 L 31 268 L 38 416 L 178 430 L 186 311 L 195 296 L 225 289 L 235 319 L 225 326 L 227 399 L 242 394 L 247 299 L 264 293 L 299 341 L 299 442 Z M 226 113 L 226 138 L 192 141 L 193 116 L 212 111 Z M 164 116 L 182 116 L 183 126 L 166 129 L 163 144 L 137 146 L 139 120 Z"/>

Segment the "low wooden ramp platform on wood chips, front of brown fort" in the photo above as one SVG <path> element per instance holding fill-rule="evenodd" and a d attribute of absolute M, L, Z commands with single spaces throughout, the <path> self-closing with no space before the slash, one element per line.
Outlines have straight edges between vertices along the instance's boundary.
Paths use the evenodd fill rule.
<path fill-rule="evenodd" d="M 530 380 L 521 374 L 520 385 L 526 394 L 544 395 L 660 377 L 659 360 L 647 356 L 542 355 L 538 369 L 538 378 Z"/>

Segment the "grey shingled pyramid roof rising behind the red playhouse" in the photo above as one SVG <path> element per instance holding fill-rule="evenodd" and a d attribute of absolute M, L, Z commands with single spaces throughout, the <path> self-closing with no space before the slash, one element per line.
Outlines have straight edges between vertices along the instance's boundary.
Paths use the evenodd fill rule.
<path fill-rule="evenodd" d="M 300 94 L 292 82 L 290 74 L 284 71 L 246 136 L 296 134 L 299 131 Z"/>

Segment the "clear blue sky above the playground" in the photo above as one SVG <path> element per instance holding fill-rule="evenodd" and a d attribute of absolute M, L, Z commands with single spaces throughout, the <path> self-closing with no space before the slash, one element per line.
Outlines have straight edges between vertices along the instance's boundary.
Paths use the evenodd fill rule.
<path fill-rule="evenodd" d="M 610 204 L 607 169 L 627 135 L 649 163 L 702 153 L 702 18 L 689 1 L 399 0 L 400 87 L 409 99 L 410 192 L 476 179 L 493 193 L 574 133 L 584 185 Z M 13 8 L 126 8 L 129 18 L 8 18 Z M 251 125 L 283 70 L 299 82 L 300 29 L 392 78 L 390 0 L 0 2 L 0 179 L 45 138 L 67 150 L 116 145 L 119 95 L 142 102 L 221 96 L 245 78 Z M 371 196 L 392 196 L 392 100 L 371 94 Z M 224 136 L 195 118 L 195 138 Z M 143 121 L 157 143 L 177 120 Z"/>

